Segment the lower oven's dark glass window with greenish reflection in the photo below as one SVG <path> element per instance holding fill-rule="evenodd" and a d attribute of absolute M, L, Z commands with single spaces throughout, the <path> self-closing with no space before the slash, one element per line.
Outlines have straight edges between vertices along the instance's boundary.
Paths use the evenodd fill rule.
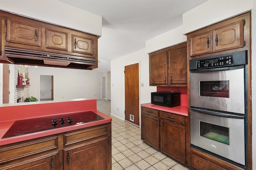
<path fill-rule="evenodd" d="M 200 136 L 229 145 L 229 128 L 200 121 Z"/>

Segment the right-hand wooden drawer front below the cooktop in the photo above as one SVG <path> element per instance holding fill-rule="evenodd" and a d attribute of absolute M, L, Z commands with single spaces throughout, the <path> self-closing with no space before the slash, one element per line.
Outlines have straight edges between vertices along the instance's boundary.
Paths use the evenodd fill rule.
<path fill-rule="evenodd" d="M 83 131 L 72 131 L 64 134 L 64 145 L 85 141 L 94 137 L 108 134 L 108 126 L 101 126 L 92 129 L 85 129 Z"/>

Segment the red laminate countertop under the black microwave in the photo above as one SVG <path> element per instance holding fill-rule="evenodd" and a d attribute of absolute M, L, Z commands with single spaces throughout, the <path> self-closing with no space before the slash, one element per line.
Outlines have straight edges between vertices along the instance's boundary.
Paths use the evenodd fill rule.
<path fill-rule="evenodd" d="M 170 113 L 175 113 L 178 115 L 188 116 L 188 106 L 165 107 L 165 106 L 158 106 L 151 103 L 140 104 L 140 106 L 148 107 L 151 109 L 157 109 L 161 111 L 166 111 Z"/>

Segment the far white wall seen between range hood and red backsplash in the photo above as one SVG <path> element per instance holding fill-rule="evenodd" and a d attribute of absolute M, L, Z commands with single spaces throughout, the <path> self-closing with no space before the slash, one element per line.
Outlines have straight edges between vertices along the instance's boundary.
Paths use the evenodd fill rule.
<path fill-rule="evenodd" d="M 54 100 L 76 98 L 101 99 L 101 75 L 96 70 L 79 70 L 54 67 L 30 67 L 29 96 L 39 99 L 40 75 L 53 75 Z"/>

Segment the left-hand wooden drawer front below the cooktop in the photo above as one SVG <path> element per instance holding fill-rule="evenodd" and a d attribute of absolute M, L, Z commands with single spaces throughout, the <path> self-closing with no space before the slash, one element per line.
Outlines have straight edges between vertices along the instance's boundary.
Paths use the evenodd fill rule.
<path fill-rule="evenodd" d="M 0 163 L 58 148 L 58 136 L 0 147 Z"/>

